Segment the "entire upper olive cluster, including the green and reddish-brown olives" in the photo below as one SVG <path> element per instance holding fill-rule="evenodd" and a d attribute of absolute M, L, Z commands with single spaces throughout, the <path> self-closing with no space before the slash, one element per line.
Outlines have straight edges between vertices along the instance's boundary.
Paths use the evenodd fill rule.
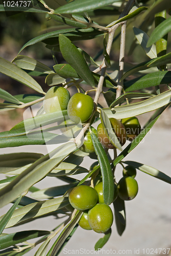
<path fill-rule="evenodd" d="M 76 93 L 70 98 L 67 89 L 54 86 L 45 95 L 44 110 L 46 113 L 67 110 L 69 119 L 59 123 L 63 125 L 60 131 L 67 137 L 74 138 L 82 129 L 81 123 L 86 122 L 91 117 L 94 102 L 92 97 L 82 93 Z M 125 144 L 126 140 L 133 140 L 141 131 L 141 125 L 136 117 L 124 118 L 121 121 L 110 118 L 110 121 L 121 146 Z M 94 127 L 91 129 L 105 148 L 115 148 L 106 136 L 102 123 L 98 125 L 97 130 Z M 90 131 L 84 134 L 84 142 L 79 149 L 86 153 L 95 152 Z"/>

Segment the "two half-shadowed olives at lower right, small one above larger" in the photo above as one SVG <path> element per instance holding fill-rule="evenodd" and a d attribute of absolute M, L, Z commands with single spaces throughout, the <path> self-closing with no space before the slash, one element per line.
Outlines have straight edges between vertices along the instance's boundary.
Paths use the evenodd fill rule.
<path fill-rule="evenodd" d="M 138 183 L 134 179 L 136 173 L 136 168 L 130 165 L 123 168 L 123 177 L 118 182 L 118 196 L 124 201 L 132 200 L 137 196 Z"/>

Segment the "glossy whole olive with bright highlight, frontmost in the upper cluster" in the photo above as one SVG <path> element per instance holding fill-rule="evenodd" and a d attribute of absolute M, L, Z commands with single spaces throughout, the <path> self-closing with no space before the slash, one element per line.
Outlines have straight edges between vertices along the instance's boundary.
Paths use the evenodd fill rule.
<path fill-rule="evenodd" d="M 94 102 L 92 97 L 82 93 L 74 94 L 68 103 L 68 116 L 76 123 L 86 122 L 92 115 Z"/>

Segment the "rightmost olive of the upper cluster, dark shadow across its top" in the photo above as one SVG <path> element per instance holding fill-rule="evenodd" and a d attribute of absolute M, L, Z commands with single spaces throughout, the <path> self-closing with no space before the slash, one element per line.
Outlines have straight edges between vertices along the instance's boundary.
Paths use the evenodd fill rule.
<path fill-rule="evenodd" d="M 132 141 L 141 132 L 141 125 L 137 117 L 123 118 L 121 122 L 126 129 L 127 140 Z"/>

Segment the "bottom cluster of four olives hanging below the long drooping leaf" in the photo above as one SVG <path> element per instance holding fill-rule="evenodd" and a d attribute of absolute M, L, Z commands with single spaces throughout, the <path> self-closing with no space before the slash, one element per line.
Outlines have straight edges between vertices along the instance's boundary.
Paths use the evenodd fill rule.
<path fill-rule="evenodd" d="M 75 209 L 84 211 L 78 222 L 80 227 L 104 233 L 112 226 L 113 212 L 109 205 L 104 204 L 102 182 L 97 186 L 74 187 L 69 195 L 69 202 Z"/>

